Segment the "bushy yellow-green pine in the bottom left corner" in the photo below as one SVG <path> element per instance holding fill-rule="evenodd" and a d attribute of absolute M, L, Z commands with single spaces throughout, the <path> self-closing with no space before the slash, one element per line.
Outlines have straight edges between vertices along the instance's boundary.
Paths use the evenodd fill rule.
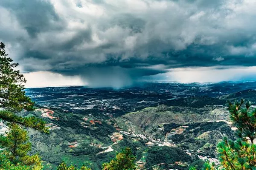
<path fill-rule="evenodd" d="M 28 155 L 31 143 L 28 142 L 29 137 L 26 130 L 15 123 L 10 124 L 9 127 L 11 130 L 7 136 L 0 136 L 0 146 L 4 148 L 1 155 L 4 155 L 10 164 L 27 165 L 34 170 L 41 170 L 41 158 L 38 155 Z"/>

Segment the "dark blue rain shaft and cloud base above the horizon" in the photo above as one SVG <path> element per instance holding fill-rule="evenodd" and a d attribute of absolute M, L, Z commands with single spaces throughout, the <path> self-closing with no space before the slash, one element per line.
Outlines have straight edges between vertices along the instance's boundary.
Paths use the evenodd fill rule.
<path fill-rule="evenodd" d="M 132 85 L 134 81 L 139 81 L 143 76 L 165 73 L 157 69 L 149 68 L 123 68 L 120 66 L 95 65 L 84 68 L 74 68 L 66 71 L 53 70 L 65 76 L 79 75 L 86 79 L 91 87 L 113 87 L 121 88 Z"/>

